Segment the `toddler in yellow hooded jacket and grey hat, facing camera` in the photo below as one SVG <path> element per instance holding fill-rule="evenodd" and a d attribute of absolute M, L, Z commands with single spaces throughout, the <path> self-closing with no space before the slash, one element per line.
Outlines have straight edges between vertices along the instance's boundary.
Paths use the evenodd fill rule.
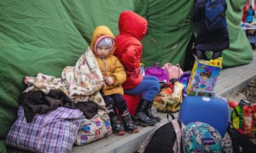
<path fill-rule="evenodd" d="M 112 54 L 115 51 L 115 36 L 106 26 L 98 26 L 91 38 L 91 50 L 104 76 L 106 86 L 103 87 L 103 99 L 105 100 L 113 132 L 115 135 L 125 135 L 138 132 L 138 128 L 131 120 L 131 115 L 123 98 L 124 90 L 121 84 L 126 80 L 126 73 L 123 65 L 117 57 Z M 119 120 L 118 109 L 121 121 Z"/>

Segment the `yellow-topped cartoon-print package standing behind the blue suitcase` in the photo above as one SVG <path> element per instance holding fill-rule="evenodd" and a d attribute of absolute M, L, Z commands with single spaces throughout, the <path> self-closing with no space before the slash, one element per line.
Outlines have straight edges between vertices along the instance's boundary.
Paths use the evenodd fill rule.
<path fill-rule="evenodd" d="M 195 95 L 196 90 L 213 91 L 221 71 L 222 57 L 216 60 L 198 60 L 194 56 L 194 67 L 191 71 L 191 77 L 188 82 L 188 95 Z"/>

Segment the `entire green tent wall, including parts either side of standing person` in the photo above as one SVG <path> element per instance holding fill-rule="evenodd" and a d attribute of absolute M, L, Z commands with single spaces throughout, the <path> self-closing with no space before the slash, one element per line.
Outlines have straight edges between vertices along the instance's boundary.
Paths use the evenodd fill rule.
<path fill-rule="evenodd" d="M 227 2 L 231 47 L 224 51 L 223 65 L 234 67 L 250 63 L 253 55 L 240 26 L 244 0 Z M 145 67 L 155 62 L 183 66 L 194 28 L 193 4 L 187 0 L 0 1 L 0 151 L 5 152 L 3 140 L 17 117 L 25 76 L 60 77 L 62 69 L 74 66 L 87 50 L 98 25 L 118 34 L 118 16 L 125 10 L 148 19 L 148 34 L 142 40 Z"/>

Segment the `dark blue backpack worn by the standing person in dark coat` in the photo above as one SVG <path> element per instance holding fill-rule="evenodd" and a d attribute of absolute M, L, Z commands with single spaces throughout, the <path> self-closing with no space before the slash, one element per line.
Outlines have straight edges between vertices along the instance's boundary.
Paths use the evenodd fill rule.
<path fill-rule="evenodd" d="M 205 24 L 208 31 L 227 28 L 224 6 L 220 0 L 208 0 L 205 4 Z"/>

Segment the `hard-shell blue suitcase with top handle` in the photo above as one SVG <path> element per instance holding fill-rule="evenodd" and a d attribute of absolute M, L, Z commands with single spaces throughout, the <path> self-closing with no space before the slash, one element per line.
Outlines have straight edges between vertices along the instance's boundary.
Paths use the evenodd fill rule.
<path fill-rule="evenodd" d="M 198 93 L 210 93 L 211 97 L 198 96 Z M 195 121 L 205 122 L 224 138 L 228 128 L 228 105 L 224 100 L 214 97 L 212 91 L 196 91 L 195 96 L 186 96 L 181 103 L 178 119 L 185 125 Z"/>

